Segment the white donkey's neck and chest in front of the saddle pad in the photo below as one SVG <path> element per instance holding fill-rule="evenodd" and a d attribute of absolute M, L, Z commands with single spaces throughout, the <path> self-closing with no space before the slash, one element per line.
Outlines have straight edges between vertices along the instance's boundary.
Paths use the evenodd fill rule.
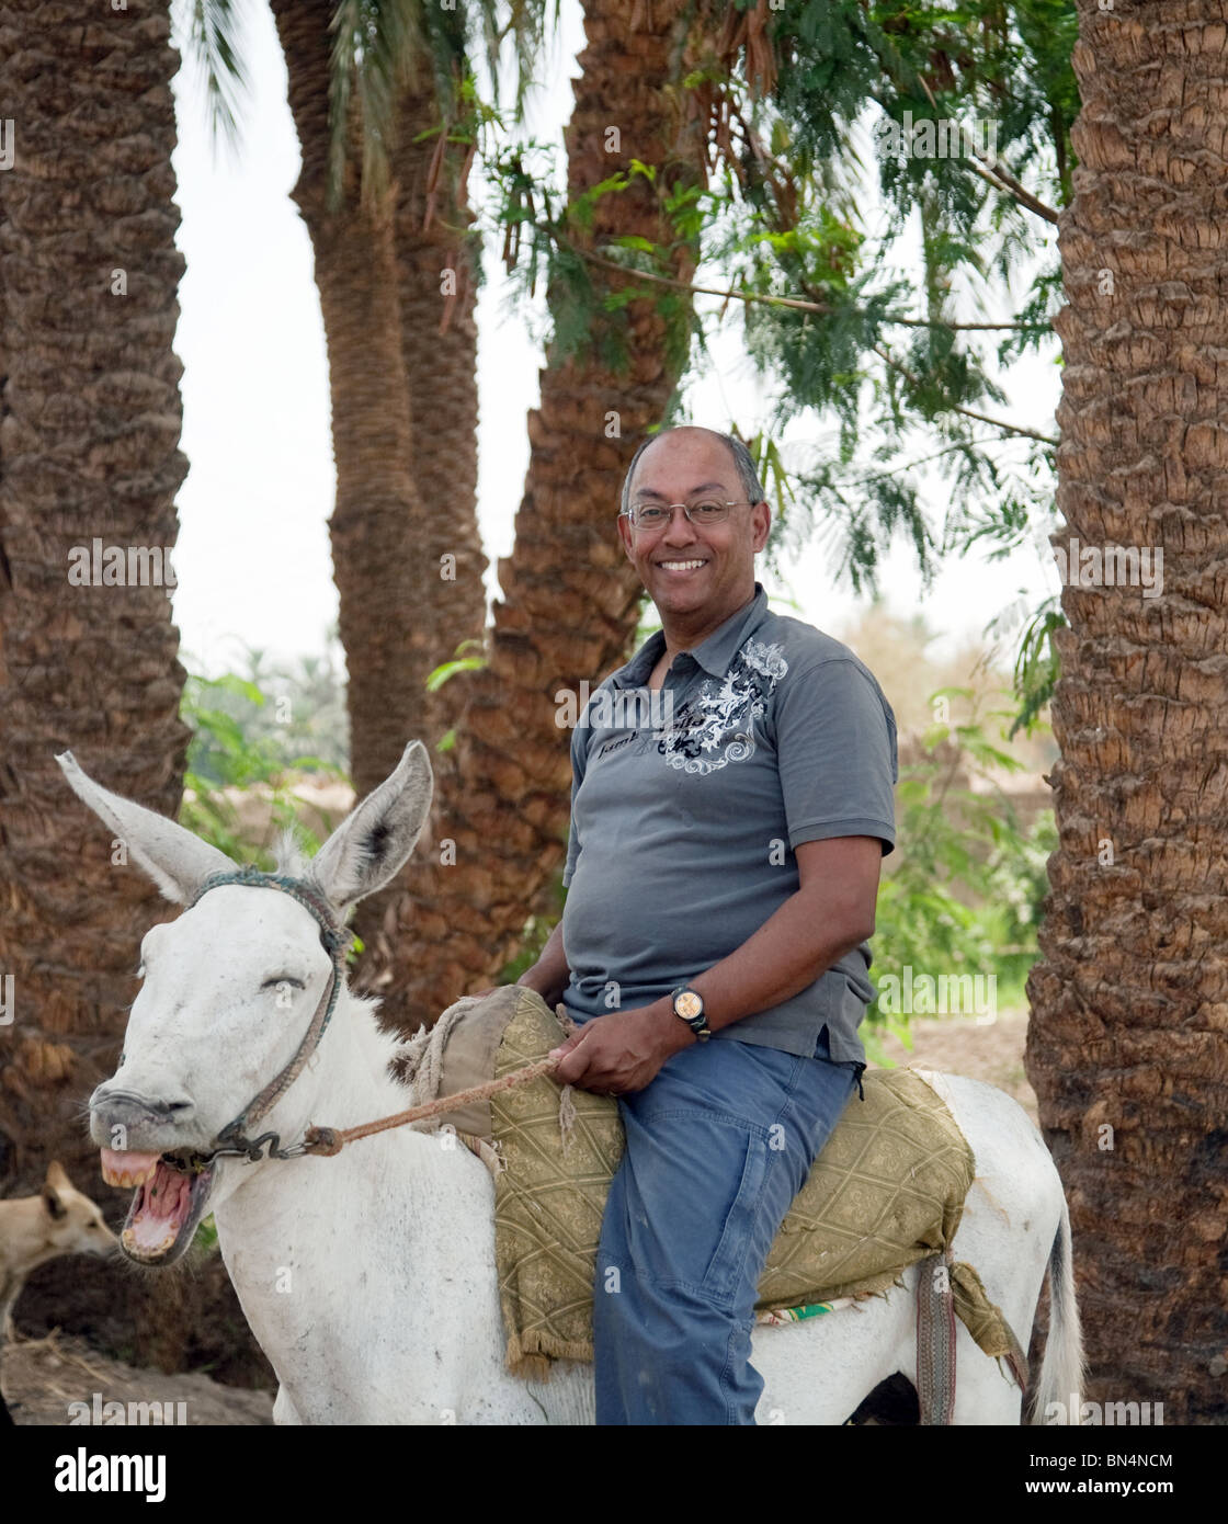
<path fill-rule="evenodd" d="M 408 1103 L 372 1067 L 378 1050 L 353 1020 L 366 1012 L 338 1017 L 285 1097 L 294 1128 L 283 1137 L 308 1119 L 346 1128 Z M 274 1109 L 289 1122 L 283 1103 Z M 446 1423 L 481 1420 L 495 1404 L 495 1422 L 524 1422 L 530 1399 L 503 1369 L 494 1190 L 463 1145 L 399 1128 L 332 1158 L 229 1167 L 250 1173 L 216 1209 L 218 1241 L 283 1411 Z"/>

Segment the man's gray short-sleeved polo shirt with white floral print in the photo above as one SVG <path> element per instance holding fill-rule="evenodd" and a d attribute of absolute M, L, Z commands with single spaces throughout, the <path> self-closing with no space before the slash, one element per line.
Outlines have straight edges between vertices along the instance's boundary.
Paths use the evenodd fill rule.
<path fill-rule="evenodd" d="M 829 837 L 896 841 L 896 719 L 853 652 L 753 602 L 660 693 L 652 636 L 591 695 L 571 736 L 562 936 L 577 1021 L 651 1004 L 736 951 L 798 888 L 794 849 Z M 865 1062 L 858 1024 L 878 991 L 870 948 L 715 1038 Z"/>

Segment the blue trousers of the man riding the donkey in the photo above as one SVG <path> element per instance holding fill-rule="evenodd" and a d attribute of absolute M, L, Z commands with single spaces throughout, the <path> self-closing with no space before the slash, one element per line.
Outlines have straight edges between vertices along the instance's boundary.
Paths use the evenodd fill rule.
<path fill-rule="evenodd" d="M 754 1423 L 759 1277 L 861 1065 L 695 1042 L 619 1100 L 597 1248 L 597 1423 Z"/>

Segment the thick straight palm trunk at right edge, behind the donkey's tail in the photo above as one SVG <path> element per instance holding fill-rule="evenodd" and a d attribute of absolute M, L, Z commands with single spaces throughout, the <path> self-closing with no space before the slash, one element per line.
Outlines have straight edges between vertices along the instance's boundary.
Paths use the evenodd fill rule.
<path fill-rule="evenodd" d="M 1223 1417 L 1228 1352 L 1228 55 L 1217 0 L 1079 12 L 1054 544 L 1156 547 L 1164 582 L 1062 596 L 1027 1071 L 1071 1205 L 1091 1396 L 1198 1423 Z"/>

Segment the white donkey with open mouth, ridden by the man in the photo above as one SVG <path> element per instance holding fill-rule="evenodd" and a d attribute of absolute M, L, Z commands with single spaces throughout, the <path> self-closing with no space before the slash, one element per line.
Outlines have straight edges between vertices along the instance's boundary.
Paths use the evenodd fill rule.
<path fill-rule="evenodd" d="M 70 753 L 59 762 L 163 895 L 189 907 L 142 942 L 125 1052 L 90 1103 L 104 1175 L 136 1187 L 128 1257 L 172 1263 L 213 1213 L 280 1381 L 279 1423 L 591 1423 L 591 1366 L 561 1362 L 544 1384 L 504 1370 L 494 1186 L 468 1149 L 402 1128 L 332 1158 L 273 1152 L 311 1125 L 349 1128 L 405 1105 L 389 1074 L 395 1039 L 376 1029 L 375 1004 L 346 989 L 335 925 L 417 840 L 433 786 L 421 742 L 309 864 L 286 864 L 297 876 L 282 893 L 236 882 L 215 847 L 99 788 Z M 227 882 L 212 884 L 218 876 Z M 975 1265 L 1024 1349 L 1048 1266 L 1053 1311 L 1031 1411 L 1070 1411 L 1082 1347 L 1057 1172 L 1010 1097 L 971 1079 L 934 1082 L 978 1167 L 955 1257 Z M 268 1134 L 244 1135 L 256 1120 L 276 1134 L 268 1155 Z M 759 1422 L 843 1423 L 881 1381 L 913 1373 L 916 1279 L 907 1273 L 905 1289 L 864 1306 L 757 1327 Z M 1019 1388 L 963 1324 L 955 1347 L 954 1420 L 1018 1423 Z"/>

